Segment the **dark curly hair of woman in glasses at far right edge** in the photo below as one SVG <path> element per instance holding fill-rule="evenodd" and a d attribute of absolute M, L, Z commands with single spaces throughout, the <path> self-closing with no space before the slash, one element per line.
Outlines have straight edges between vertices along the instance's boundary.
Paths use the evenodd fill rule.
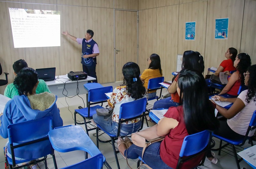
<path fill-rule="evenodd" d="M 249 79 L 248 79 L 248 92 L 246 95 L 245 101 L 249 103 L 252 98 L 253 101 L 256 101 L 256 65 L 252 65 L 248 67 L 248 72 L 249 72 Z M 247 75 L 248 76 L 248 75 Z"/>

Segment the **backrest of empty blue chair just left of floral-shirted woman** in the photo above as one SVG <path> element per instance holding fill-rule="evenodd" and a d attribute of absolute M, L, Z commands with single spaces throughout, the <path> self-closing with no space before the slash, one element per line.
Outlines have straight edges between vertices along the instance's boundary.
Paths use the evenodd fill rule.
<path fill-rule="evenodd" d="M 88 91 L 88 102 L 100 102 L 107 100 L 105 93 L 113 92 L 113 87 L 94 88 Z"/>

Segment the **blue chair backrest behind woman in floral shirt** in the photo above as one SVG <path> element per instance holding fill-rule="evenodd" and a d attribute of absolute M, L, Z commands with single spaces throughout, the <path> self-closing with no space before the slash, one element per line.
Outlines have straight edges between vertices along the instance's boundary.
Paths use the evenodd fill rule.
<path fill-rule="evenodd" d="M 141 115 L 146 111 L 147 98 L 134 100 L 132 102 L 123 103 L 120 106 L 119 119 L 132 118 Z"/>

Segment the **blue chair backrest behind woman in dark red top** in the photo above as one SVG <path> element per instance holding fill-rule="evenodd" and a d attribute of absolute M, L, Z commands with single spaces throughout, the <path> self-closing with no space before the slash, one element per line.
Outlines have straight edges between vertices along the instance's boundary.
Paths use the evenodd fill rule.
<path fill-rule="evenodd" d="M 180 157 L 191 156 L 204 150 L 209 144 L 209 139 L 210 131 L 208 130 L 186 136 L 180 149 Z"/>

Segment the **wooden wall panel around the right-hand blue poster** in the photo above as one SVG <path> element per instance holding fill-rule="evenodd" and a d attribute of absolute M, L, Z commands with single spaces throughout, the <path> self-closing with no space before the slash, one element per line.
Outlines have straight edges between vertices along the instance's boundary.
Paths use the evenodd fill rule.
<path fill-rule="evenodd" d="M 204 73 L 208 67 L 219 67 L 229 47 L 235 47 L 239 53 L 243 10 L 242 0 L 208 0 Z M 228 39 L 215 39 L 215 19 L 218 18 L 229 18 Z"/>

